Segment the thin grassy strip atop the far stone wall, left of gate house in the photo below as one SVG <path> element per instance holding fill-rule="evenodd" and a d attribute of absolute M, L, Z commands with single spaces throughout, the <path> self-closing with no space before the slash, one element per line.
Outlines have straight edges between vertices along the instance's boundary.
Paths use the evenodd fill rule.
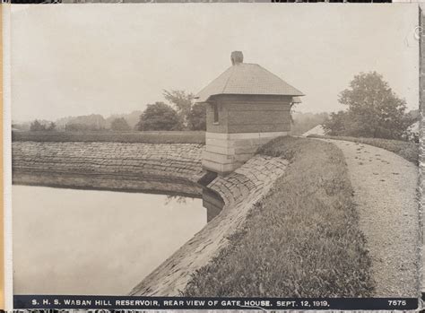
<path fill-rule="evenodd" d="M 184 132 L 13 132 L 12 141 L 116 142 L 116 143 L 205 143 L 202 131 Z"/>

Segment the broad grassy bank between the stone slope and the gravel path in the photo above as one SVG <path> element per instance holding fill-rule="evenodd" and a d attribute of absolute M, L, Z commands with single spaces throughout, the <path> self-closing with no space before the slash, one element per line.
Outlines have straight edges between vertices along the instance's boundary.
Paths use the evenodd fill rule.
<path fill-rule="evenodd" d="M 368 297 L 374 283 L 343 153 L 281 137 L 258 152 L 290 161 L 242 230 L 185 296 Z"/>

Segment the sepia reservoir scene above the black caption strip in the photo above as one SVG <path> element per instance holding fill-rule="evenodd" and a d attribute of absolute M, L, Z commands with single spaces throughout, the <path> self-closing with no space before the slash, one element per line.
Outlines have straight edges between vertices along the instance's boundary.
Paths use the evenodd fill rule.
<path fill-rule="evenodd" d="M 417 4 L 12 5 L 14 295 L 419 298 Z"/>

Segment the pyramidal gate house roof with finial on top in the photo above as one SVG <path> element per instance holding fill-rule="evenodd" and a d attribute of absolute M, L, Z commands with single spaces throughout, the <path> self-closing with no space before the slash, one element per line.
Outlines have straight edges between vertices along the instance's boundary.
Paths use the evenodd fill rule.
<path fill-rule="evenodd" d="M 240 51 L 232 52 L 231 61 L 232 66 L 195 95 L 196 102 L 205 102 L 218 94 L 304 96 L 264 67 L 243 63 Z"/>

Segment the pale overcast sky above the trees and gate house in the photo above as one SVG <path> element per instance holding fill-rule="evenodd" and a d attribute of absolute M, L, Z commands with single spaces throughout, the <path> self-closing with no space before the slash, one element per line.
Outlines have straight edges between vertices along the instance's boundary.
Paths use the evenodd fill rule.
<path fill-rule="evenodd" d="M 417 4 L 13 5 L 13 120 L 99 113 L 200 91 L 230 52 L 303 91 L 303 112 L 344 109 L 354 74 L 377 71 L 418 104 Z"/>

